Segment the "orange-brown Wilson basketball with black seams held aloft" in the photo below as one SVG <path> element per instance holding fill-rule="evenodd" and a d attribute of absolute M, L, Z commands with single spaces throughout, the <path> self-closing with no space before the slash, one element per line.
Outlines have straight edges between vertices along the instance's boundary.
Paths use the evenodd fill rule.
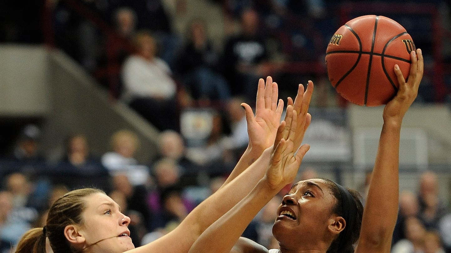
<path fill-rule="evenodd" d="M 332 36 L 326 50 L 331 85 L 362 106 L 387 104 L 398 91 L 395 64 L 406 79 L 414 42 L 405 28 L 384 16 L 354 18 Z"/>

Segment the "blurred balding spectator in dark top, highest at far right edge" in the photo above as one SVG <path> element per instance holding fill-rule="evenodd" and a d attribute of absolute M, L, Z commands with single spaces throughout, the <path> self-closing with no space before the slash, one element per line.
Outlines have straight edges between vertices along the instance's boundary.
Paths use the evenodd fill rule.
<path fill-rule="evenodd" d="M 423 172 L 419 183 L 420 219 L 427 229 L 438 229 L 439 220 L 446 214 L 446 204 L 438 196 L 438 179 L 434 172 Z"/>

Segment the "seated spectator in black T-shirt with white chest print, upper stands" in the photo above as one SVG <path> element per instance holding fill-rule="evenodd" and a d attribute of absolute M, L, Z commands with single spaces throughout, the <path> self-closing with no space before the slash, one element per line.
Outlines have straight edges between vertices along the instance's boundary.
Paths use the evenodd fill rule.
<path fill-rule="evenodd" d="M 230 37 L 224 48 L 224 76 L 228 78 L 232 95 L 244 95 L 254 100 L 258 77 L 267 76 L 267 45 L 259 35 L 259 17 L 253 9 L 244 9 L 240 16 L 241 31 Z"/>

